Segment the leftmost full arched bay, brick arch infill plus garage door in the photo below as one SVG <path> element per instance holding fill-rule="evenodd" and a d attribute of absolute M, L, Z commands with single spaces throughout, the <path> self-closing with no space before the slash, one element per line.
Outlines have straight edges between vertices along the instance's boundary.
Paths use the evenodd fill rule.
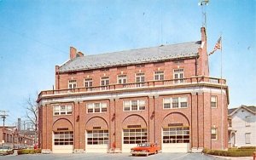
<path fill-rule="evenodd" d="M 73 152 L 73 126 L 67 119 L 59 119 L 53 125 L 53 153 Z"/>

